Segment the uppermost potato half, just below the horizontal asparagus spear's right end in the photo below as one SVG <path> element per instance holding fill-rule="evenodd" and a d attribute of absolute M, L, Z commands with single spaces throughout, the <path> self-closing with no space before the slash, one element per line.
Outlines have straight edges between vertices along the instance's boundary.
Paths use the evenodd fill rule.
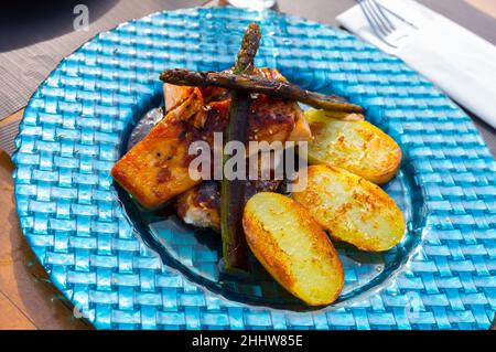
<path fill-rule="evenodd" d="M 333 118 L 322 110 L 308 110 L 305 115 L 314 136 L 309 143 L 310 163 L 336 166 L 377 184 L 397 173 L 401 149 L 374 125 Z"/>

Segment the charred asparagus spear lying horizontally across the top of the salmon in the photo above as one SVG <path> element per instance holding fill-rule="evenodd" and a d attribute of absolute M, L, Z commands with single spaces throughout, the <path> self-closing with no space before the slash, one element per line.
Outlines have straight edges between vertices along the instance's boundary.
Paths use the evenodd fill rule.
<path fill-rule="evenodd" d="M 242 92 L 262 93 L 273 97 L 298 100 L 314 108 L 330 111 L 362 113 L 363 110 L 360 106 L 351 104 L 342 97 L 309 92 L 289 82 L 249 76 L 246 72 L 239 73 L 236 67 L 233 74 L 213 71 L 192 72 L 181 68 L 166 70 L 160 75 L 160 79 L 175 85 L 218 86 Z"/>

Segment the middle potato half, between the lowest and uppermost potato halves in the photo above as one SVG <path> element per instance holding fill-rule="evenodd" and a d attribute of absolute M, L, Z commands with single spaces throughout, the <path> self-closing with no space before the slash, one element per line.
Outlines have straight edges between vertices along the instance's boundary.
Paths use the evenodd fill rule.
<path fill-rule="evenodd" d="M 378 185 L 335 167 L 312 166 L 306 171 L 306 188 L 292 196 L 333 237 L 369 252 L 387 250 L 401 241 L 401 211 Z"/>

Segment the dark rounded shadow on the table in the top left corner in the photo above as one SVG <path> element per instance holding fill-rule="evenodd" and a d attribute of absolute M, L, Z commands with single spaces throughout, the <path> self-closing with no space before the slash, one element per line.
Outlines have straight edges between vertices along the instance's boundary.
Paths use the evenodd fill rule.
<path fill-rule="evenodd" d="M 0 53 L 74 31 L 77 4 L 86 4 L 89 22 L 108 12 L 117 0 L 4 1 L 0 6 Z"/>

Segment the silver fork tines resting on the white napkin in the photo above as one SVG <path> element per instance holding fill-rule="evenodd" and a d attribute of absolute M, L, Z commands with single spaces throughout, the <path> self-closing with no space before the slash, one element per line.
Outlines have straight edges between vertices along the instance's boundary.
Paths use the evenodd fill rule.
<path fill-rule="evenodd" d="M 380 39 L 384 43 L 391 47 L 398 47 L 400 40 L 409 36 L 409 31 L 406 26 L 398 26 L 399 23 L 407 24 L 411 30 L 418 30 L 418 28 L 406 20 L 401 15 L 392 12 L 388 8 L 385 8 L 376 0 L 356 0 L 360 6 L 362 12 L 364 12 L 368 24 L 370 25 L 374 34 Z M 395 17 L 398 21 L 396 24 L 389 19 L 388 14 Z"/>

